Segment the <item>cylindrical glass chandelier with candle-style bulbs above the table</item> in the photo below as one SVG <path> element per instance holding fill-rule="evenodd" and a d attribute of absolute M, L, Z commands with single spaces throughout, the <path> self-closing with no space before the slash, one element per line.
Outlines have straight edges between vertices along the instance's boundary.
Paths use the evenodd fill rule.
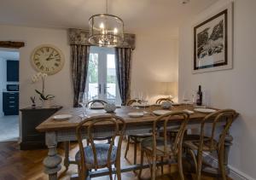
<path fill-rule="evenodd" d="M 106 0 L 106 14 L 92 15 L 89 26 L 90 44 L 104 47 L 123 44 L 124 22 L 118 16 L 108 14 L 108 0 Z"/>

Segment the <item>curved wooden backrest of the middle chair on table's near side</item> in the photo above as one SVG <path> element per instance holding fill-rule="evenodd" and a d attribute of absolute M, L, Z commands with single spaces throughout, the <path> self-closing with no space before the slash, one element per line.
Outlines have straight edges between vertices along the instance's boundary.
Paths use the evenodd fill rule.
<path fill-rule="evenodd" d="M 170 137 L 167 136 L 167 128 L 168 125 L 174 120 L 174 119 L 180 119 L 181 124 L 179 125 L 179 130 L 177 131 L 177 136 L 175 137 L 174 142 L 172 142 L 172 145 L 168 143 Z M 189 113 L 185 113 L 183 111 L 176 111 L 172 113 L 166 113 L 159 118 L 155 119 L 154 125 L 153 125 L 153 149 L 154 153 L 156 150 L 156 137 L 158 136 L 158 131 L 160 128 L 164 128 L 163 131 L 163 138 L 164 138 L 164 154 L 169 154 L 170 148 L 173 153 L 177 153 L 179 150 L 182 150 L 182 143 L 183 143 L 183 135 L 184 131 L 186 130 L 186 126 L 189 121 Z M 170 147 L 171 146 L 171 147 Z"/>

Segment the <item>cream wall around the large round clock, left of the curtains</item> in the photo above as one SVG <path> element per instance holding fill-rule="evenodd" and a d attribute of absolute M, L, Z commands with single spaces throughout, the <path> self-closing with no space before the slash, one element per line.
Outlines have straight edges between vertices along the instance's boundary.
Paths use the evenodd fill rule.
<path fill-rule="evenodd" d="M 60 73 L 46 79 L 46 92 L 55 95 L 55 104 L 64 107 L 73 105 L 73 89 L 70 76 L 70 48 L 67 44 L 67 30 L 32 28 L 26 26 L 0 26 L 0 39 L 25 42 L 20 49 L 20 107 L 31 105 L 30 96 L 37 96 L 34 89 L 41 84 L 32 84 L 31 77 L 36 73 L 30 62 L 32 50 L 41 44 L 53 44 L 65 55 L 65 65 Z M 37 101 L 40 105 L 39 100 Z"/>

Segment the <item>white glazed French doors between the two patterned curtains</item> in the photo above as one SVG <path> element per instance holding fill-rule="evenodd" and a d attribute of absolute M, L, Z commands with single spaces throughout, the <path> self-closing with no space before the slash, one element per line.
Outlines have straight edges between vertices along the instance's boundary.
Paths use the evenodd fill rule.
<path fill-rule="evenodd" d="M 120 104 L 113 48 L 90 47 L 86 91 L 90 100 Z"/>

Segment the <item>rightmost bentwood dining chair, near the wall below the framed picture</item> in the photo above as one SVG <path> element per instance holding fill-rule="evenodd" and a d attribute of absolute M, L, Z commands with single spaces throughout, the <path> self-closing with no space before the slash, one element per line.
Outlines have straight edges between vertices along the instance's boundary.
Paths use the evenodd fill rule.
<path fill-rule="evenodd" d="M 224 166 L 224 140 L 235 118 L 236 111 L 232 109 L 224 109 L 215 113 L 210 113 L 201 122 L 200 136 L 196 137 L 196 135 L 189 135 L 187 139 L 190 140 L 184 140 L 183 147 L 189 152 L 195 163 L 197 180 L 201 179 L 203 152 L 212 153 L 213 151 L 216 151 L 218 154 L 218 171 L 220 172 L 222 179 L 226 179 Z M 206 124 L 210 119 L 213 119 L 213 123 L 210 127 L 207 126 L 207 131 L 211 132 L 211 136 L 206 136 Z M 224 129 L 222 131 L 217 131 L 217 126 L 221 123 L 224 124 Z M 215 138 L 216 136 L 219 137 L 218 140 Z M 195 154 L 195 151 L 197 154 Z"/>

